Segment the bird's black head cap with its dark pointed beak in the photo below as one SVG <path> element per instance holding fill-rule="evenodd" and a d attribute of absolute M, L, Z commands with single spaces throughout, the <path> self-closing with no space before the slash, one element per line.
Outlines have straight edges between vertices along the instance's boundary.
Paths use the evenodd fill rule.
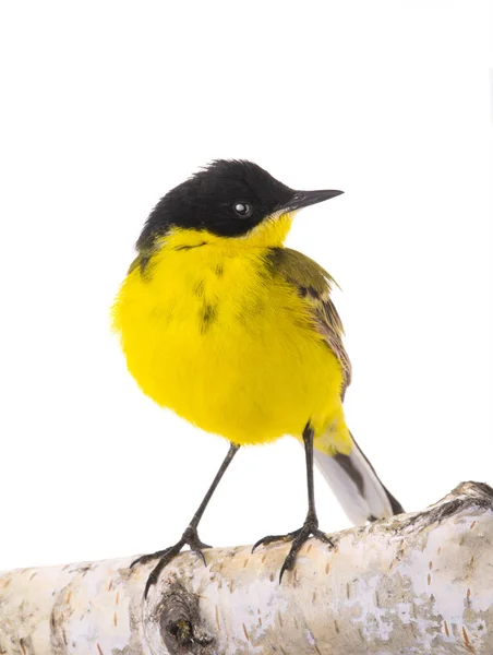
<path fill-rule="evenodd" d="M 161 198 L 136 247 L 152 248 L 173 226 L 242 236 L 276 212 L 294 211 L 339 193 L 294 191 L 252 162 L 217 159 Z"/>

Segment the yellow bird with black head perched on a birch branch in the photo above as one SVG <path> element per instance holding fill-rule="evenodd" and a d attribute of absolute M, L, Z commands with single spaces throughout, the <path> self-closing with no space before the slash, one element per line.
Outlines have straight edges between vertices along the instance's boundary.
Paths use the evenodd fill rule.
<path fill-rule="evenodd" d="M 318 528 L 314 462 L 354 524 L 404 512 L 346 424 L 351 382 L 334 278 L 286 247 L 298 212 L 340 195 L 299 191 L 245 159 L 215 159 L 172 188 L 148 215 L 136 257 L 112 306 L 127 367 L 141 390 L 229 450 L 180 540 L 137 558 L 156 561 L 145 596 L 184 546 L 209 548 L 200 520 L 241 446 L 294 437 L 305 452 L 308 513 L 302 526 L 268 535 L 253 550 L 290 544 L 292 571 Z"/>

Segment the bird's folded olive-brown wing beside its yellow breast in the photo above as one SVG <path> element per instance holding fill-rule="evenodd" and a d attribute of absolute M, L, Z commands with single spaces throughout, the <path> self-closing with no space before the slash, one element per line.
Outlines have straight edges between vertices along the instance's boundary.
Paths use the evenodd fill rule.
<path fill-rule="evenodd" d="M 269 260 L 274 270 L 292 284 L 310 305 L 315 326 L 340 362 L 344 372 L 341 397 L 351 382 L 351 362 L 342 344 L 344 327 L 334 302 L 332 287 L 337 283 L 321 265 L 290 248 L 273 248 Z"/>

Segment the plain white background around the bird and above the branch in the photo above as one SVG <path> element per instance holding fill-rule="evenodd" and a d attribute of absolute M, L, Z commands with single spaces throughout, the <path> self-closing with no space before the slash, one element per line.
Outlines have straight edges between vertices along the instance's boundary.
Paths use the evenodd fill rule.
<path fill-rule="evenodd" d="M 2 4 L 0 569 L 165 547 L 212 480 L 227 443 L 141 394 L 108 314 L 149 210 L 216 157 L 346 191 L 289 245 L 344 288 L 348 421 L 386 485 L 419 510 L 493 483 L 486 9 Z M 246 449 L 201 536 L 299 527 L 304 485 L 293 440 Z"/>

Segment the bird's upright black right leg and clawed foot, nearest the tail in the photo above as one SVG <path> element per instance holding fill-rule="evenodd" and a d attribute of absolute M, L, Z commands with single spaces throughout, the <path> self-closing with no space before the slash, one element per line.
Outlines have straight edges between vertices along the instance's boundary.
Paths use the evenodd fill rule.
<path fill-rule="evenodd" d="M 282 580 L 285 571 L 291 571 L 293 569 L 297 555 L 310 536 L 314 536 L 321 541 L 334 546 L 327 535 L 318 529 L 318 519 L 315 511 L 315 493 L 313 486 L 313 428 L 310 426 L 310 424 L 308 424 L 303 430 L 303 442 L 304 454 L 306 457 L 306 486 L 309 499 L 309 511 L 303 526 L 300 527 L 300 529 L 288 533 L 287 535 L 269 535 L 268 537 L 258 539 L 258 541 L 252 548 L 253 552 L 255 548 L 261 545 L 265 546 L 267 544 L 272 544 L 273 541 L 292 541 L 291 548 L 279 572 L 279 582 Z"/>

